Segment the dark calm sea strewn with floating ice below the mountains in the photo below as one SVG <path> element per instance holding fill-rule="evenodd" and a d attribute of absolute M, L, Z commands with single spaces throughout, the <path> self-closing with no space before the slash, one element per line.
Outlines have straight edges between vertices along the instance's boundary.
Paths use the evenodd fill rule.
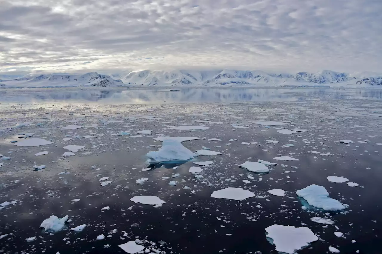
<path fill-rule="evenodd" d="M 380 253 L 382 90 L 2 89 L 0 254 Z"/>

